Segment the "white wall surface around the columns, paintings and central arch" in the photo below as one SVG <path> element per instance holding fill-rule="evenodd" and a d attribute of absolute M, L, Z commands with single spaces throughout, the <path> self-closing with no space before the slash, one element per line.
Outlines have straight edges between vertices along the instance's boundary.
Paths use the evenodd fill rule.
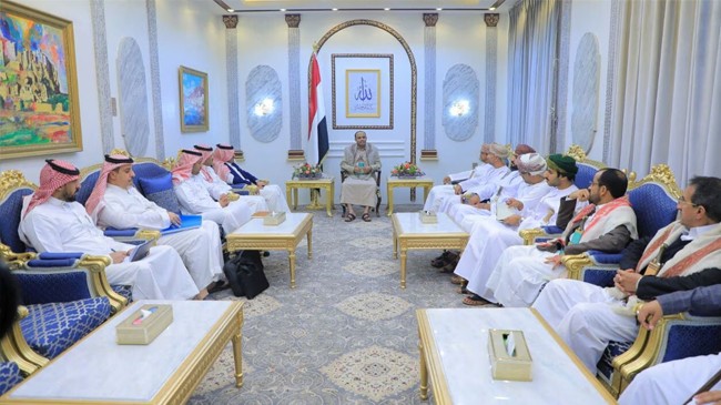
<path fill-rule="evenodd" d="M 83 148 L 79 153 L 57 155 L 80 168 L 99 163 L 102 159 L 100 136 L 100 113 L 93 53 L 94 36 L 92 31 L 90 0 L 49 1 L 29 0 L 30 7 L 51 14 L 70 19 L 75 30 L 75 52 L 80 92 Z M 229 142 L 227 85 L 225 72 L 226 29 L 221 20 L 220 9 L 212 2 L 199 3 L 194 0 L 156 0 L 156 26 L 159 40 L 160 80 L 162 97 L 162 122 L 165 133 L 164 153 L 175 155 L 181 148 L 194 143 L 215 144 Z M 144 1 L 105 1 L 105 33 L 108 41 L 108 69 L 110 71 L 111 97 L 118 97 L 118 72 L 115 59 L 120 41 L 133 38 L 140 45 L 145 63 L 149 122 L 151 139 L 148 155 L 156 156 L 154 123 L 151 92 L 150 42 L 148 16 Z M 436 180 L 449 172 L 467 170 L 477 162 L 478 150 L 484 136 L 485 117 L 485 69 L 486 69 L 486 26 L 483 16 L 477 13 L 440 13 L 436 26 L 436 111 L 424 109 L 424 30 L 425 23 L 418 12 L 375 12 L 375 13 L 305 13 L 302 14 L 301 32 L 301 129 L 290 128 L 290 88 L 287 24 L 282 13 L 241 14 L 237 24 L 238 48 L 238 95 L 241 145 L 245 152 L 244 166 L 251 172 L 268 178 L 275 183 L 283 183 L 290 178 L 293 162 L 287 162 L 291 146 L 291 132 L 299 131 L 305 140 L 307 132 L 307 63 L 312 44 L 335 26 L 353 19 L 369 19 L 387 24 L 397 31 L 413 50 L 417 67 L 417 121 L 416 155 L 419 160 L 424 146 L 424 117 L 436 114 L 435 148 L 438 161 L 418 161 L 422 169 Z M 501 16 L 497 28 L 499 40 L 498 83 L 496 105 L 497 140 L 505 138 L 505 88 L 506 63 L 505 41 L 507 17 Z M 337 32 L 319 52 L 322 75 L 325 83 L 326 114 L 328 121 L 331 154 L 326 160 L 326 172 L 338 175 L 343 148 L 353 141 L 355 130 L 334 130 L 332 128 L 332 85 L 331 55 L 333 53 L 393 53 L 394 54 L 394 129 L 368 131 L 369 141 L 379 145 L 384 173 L 387 175 L 393 165 L 407 160 L 410 155 L 410 64 L 400 43 L 389 33 L 375 27 L 354 26 Z M 441 124 L 443 80 L 447 70 L 457 63 L 474 68 L 480 82 L 479 121 L 469 140 L 456 142 L 449 140 Z M 270 143 L 258 142 L 250 136 L 246 124 L 245 81 L 248 72 L 258 64 L 275 69 L 283 83 L 283 126 L 280 136 Z M 177 69 L 185 65 L 207 72 L 210 90 L 210 130 L 203 133 L 181 133 L 179 113 Z M 123 148 L 120 119 L 113 118 L 114 146 Z M 7 160 L 0 162 L 0 170 L 19 169 L 29 180 L 37 182 L 43 160 L 48 156 Z M 385 181 L 384 181 L 385 184 Z M 384 193 L 385 193 L 385 186 Z M 338 188 L 339 190 L 339 188 Z M 304 196 L 307 199 L 307 196 Z M 384 195 L 387 201 L 387 196 Z M 396 202 L 408 202 L 408 193 L 396 194 Z"/>

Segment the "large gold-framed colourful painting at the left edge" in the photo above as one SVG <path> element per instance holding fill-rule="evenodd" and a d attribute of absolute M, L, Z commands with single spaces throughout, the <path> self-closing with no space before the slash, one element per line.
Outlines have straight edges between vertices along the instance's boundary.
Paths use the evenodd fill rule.
<path fill-rule="evenodd" d="M 0 159 L 82 150 L 72 22 L 0 2 Z"/>

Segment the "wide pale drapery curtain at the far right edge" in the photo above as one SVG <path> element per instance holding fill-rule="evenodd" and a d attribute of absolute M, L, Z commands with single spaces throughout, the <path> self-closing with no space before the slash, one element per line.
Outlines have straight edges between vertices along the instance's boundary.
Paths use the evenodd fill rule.
<path fill-rule="evenodd" d="M 627 1 L 607 163 L 721 175 L 721 1 Z"/>

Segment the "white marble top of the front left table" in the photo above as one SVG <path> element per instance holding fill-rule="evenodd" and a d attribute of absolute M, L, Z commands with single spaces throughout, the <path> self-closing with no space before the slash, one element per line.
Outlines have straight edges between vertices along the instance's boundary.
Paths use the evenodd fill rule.
<path fill-rule="evenodd" d="M 173 323 L 149 345 L 115 343 L 115 326 L 140 306 L 154 303 L 173 305 Z M 231 301 L 134 302 L 33 374 L 10 398 L 149 402 L 231 305 Z"/>

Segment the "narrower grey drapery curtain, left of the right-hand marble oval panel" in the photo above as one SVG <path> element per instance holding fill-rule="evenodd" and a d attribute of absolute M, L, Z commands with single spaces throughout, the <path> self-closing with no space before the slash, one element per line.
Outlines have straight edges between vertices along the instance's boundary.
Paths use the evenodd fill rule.
<path fill-rule="evenodd" d="M 555 151 L 554 94 L 561 2 L 522 0 L 509 12 L 508 136 L 539 153 Z"/>

